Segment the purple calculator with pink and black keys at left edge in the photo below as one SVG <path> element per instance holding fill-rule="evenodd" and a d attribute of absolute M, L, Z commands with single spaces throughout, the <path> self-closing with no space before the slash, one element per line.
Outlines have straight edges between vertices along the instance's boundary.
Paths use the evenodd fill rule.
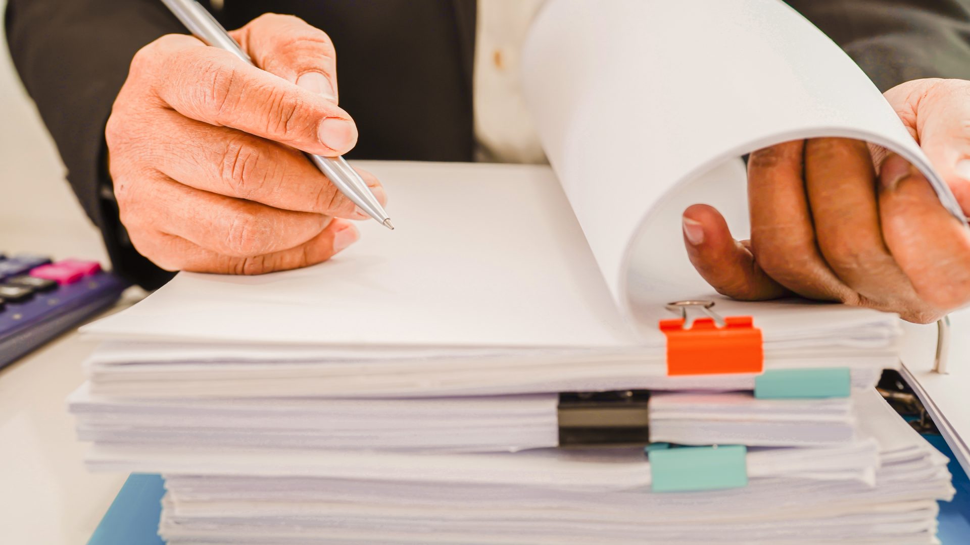
<path fill-rule="evenodd" d="M 126 287 L 95 261 L 0 254 L 0 368 L 113 305 Z"/>

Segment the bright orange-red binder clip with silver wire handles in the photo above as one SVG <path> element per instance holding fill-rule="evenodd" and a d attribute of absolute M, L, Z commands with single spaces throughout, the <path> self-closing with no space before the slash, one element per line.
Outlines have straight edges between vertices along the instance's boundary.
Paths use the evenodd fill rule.
<path fill-rule="evenodd" d="M 680 318 L 661 320 L 667 338 L 667 375 L 722 374 L 764 369 L 761 330 L 751 316 L 723 318 L 711 307 L 713 301 L 678 301 L 666 305 Z M 699 308 L 706 317 L 687 325 L 687 308 Z"/>

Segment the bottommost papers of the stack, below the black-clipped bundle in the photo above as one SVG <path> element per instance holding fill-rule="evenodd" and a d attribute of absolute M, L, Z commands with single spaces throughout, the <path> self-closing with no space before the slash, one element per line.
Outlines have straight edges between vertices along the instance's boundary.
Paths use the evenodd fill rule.
<path fill-rule="evenodd" d="M 188 543 L 931 543 L 946 457 L 874 391 L 856 440 L 752 449 L 745 488 L 651 492 L 641 450 L 390 454 L 98 446 L 162 471 L 160 532 Z"/>

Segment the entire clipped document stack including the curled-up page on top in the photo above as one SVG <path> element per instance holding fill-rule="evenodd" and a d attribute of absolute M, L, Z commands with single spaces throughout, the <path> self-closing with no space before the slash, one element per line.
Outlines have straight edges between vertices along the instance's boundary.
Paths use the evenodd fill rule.
<path fill-rule="evenodd" d="M 523 82 L 551 169 L 361 165 L 394 232 L 88 327 L 87 463 L 162 473 L 171 545 L 933 543 L 897 317 L 727 300 L 682 240 L 700 201 L 743 238 L 739 157 L 820 136 L 953 207 L 856 65 L 777 0 L 553 0 Z"/>

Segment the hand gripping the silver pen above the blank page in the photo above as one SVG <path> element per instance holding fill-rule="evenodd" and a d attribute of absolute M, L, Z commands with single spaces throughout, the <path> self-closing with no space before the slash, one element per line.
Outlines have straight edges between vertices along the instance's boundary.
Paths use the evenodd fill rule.
<path fill-rule="evenodd" d="M 105 131 L 121 222 L 170 271 L 306 267 L 357 240 L 339 218 L 368 217 L 299 151 L 334 156 L 357 142 L 337 106 L 330 39 L 276 15 L 232 34 L 263 70 L 163 36 L 135 55 Z"/>

